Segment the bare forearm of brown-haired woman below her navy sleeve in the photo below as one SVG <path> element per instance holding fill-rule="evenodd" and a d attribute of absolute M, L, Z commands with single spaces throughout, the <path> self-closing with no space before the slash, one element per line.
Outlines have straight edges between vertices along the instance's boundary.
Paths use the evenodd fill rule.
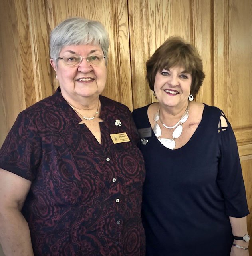
<path fill-rule="evenodd" d="M 247 217 L 229 217 L 229 220 L 234 236 L 244 236 L 245 234 L 248 234 Z M 237 244 L 238 246 L 242 246 L 244 248 L 248 248 L 248 243 L 249 242 L 234 239 L 234 244 Z M 237 248 L 236 246 L 232 246 L 230 256 L 249 256 L 249 253 L 248 250 L 243 250 L 241 248 Z"/>

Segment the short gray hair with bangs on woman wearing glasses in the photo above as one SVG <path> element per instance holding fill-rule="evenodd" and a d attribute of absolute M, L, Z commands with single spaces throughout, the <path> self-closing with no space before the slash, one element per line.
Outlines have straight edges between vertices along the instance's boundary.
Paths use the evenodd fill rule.
<path fill-rule="evenodd" d="M 69 18 L 58 24 L 50 34 L 50 56 L 58 65 L 58 56 L 63 47 L 79 44 L 101 46 L 106 64 L 109 36 L 104 26 L 95 20 Z"/>

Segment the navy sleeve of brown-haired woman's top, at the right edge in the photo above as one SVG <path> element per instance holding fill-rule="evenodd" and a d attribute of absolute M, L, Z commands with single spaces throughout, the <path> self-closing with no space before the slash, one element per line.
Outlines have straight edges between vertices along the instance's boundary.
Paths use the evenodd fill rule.
<path fill-rule="evenodd" d="M 249 214 L 242 168 L 234 132 L 227 121 L 226 130 L 219 136 L 220 159 L 217 182 L 224 196 L 226 215 L 244 217 Z"/>

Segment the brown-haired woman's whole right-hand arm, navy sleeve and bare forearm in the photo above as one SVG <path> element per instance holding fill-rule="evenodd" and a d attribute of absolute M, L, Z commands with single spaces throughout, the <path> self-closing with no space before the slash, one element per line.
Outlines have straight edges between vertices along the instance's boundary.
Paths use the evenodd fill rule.
<path fill-rule="evenodd" d="M 246 191 L 242 177 L 238 146 L 232 127 L 223 112 L 219 123 L 219 144 L 221 158 L 217 182 L 224 195 L 225 214 L 229 217 L 234 236 L 248 234 L 246 216 L 249 214 Z M 234 244 L 248 248 L 248 242 L 234 240 Z M 248 256 L 248 250 L 231 246 L 230 256 Z"/>

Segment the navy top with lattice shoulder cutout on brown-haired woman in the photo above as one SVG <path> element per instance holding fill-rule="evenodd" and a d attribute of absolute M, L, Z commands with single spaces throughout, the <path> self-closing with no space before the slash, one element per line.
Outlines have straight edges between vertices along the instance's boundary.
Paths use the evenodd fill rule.
<path fill-rule="evenodd" d="M 137 129 L 151 126 L 147 109 L 133 111 Z M 218 133 L 220 116 L 220 109 L 205 105 L 198 128 L 181 148 L 166 148 L 153 130 L 140 143 L 147 256 L 230 255 L 228 216 L 249 211 L 234 132 L 227 121 Z"/>

